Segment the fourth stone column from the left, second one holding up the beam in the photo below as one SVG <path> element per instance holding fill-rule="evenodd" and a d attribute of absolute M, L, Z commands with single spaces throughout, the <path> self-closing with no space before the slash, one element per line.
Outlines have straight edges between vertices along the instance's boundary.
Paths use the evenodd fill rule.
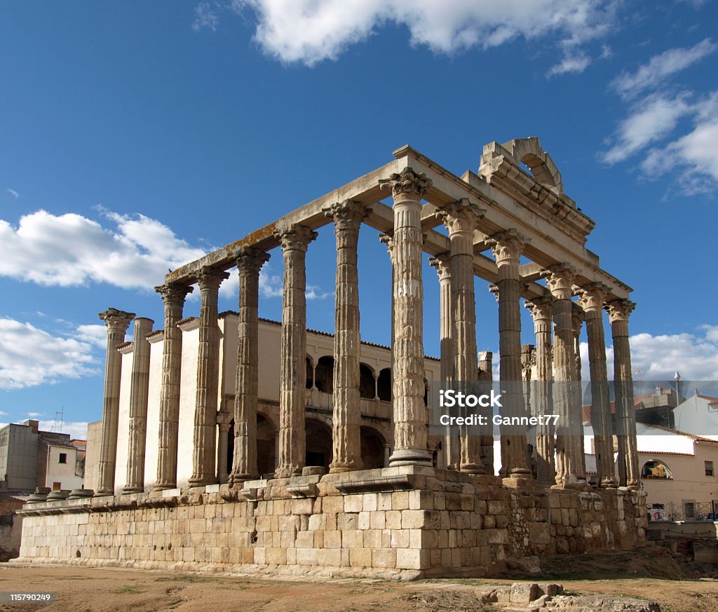
<path fill-rule="evenodd" d="M 197 351 L 197 401 L 190 486 L 213 484 L 217 478 L 217 398 L 219 392 L 220 330 L 217 297 L 229 274 L 218 268 L 202 268 L 200 286 L 200 340 Z"/>

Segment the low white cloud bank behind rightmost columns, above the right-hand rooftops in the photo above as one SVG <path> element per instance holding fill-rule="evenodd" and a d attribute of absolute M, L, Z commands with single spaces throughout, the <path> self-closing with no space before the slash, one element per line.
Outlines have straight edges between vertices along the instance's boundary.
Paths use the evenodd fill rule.
<path fill-rule="evenodd" d="M 701 325 L 698 334 L 635 334 L 630 336 L 633 376 L 644 381 L 718 380 L 718 325 Z M 613 349 L 606 347 L 608 377 L 613 378 Z M 581 343 L 582 379 L 589 380 L 588 345 Z"/>

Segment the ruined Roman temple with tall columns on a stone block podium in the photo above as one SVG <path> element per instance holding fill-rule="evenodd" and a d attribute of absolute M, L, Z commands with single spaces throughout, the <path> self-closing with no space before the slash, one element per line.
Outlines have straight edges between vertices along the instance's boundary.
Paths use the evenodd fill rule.
<path fill-rule="evenodd" d="M 361 224 L 391 258 L 391 347 L 360 341 Z M 98 482 L 95 491 L 34 495 L 22 511 L 20 560 L 421 578 L 640 544 L 635 304 L 587 250 L 594 226 L 564 194 L 538 138 L 490 143 L 477 173 L 462 176 L 404 146 L 385 166 L 170 272 L 157 287 L 164 329 L 116 309 L 101 314 Z M 305 257 L 322 228 L 336 237 L 334 334 L 306 324 Z M 271 251 L 284 262 L 281 324 L 258 313 Z M 433 278 L 422 278 L 424 253 Z M 238 311 L 219 314 L 218 289 L 233 267 Z M 555 427 L 502 431 L 496 453 L 490 431 L 428 428 L 427 385 L 491 377 L 490 355 L 477 353 L 475 277 L 498 300 L 506 413 L 551 405 L 559 415 Z M 440 359 L 424 356 L 425 283 L 440 287 Z M 184 318 L 193 289 L 200 316 Z M 522 303 L 536 334 L 528 361 Z M 132 321 L 133 342 L 124 342 Z M 593 484 L 582 397 L 567 384 L 580 376 L 584 324 L 600 424 Z M 536 390 L 528 402 L 526 372 Z"/>

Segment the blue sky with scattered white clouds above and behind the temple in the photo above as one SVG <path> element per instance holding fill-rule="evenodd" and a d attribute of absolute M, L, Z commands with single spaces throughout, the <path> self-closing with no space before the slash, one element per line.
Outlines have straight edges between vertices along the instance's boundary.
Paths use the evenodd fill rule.
<path fill-rule="evenodd" d="M 101 418 L 99 311 L 161 328 L 167 268 L 404 143 L 462 174 L 485 143 L 541 138 L 597 222 L 588 248 L 635 289 L 635 368 L 718 378 L 717 22 L 711 0 L 2 4 L 0 420 L 50 427 L 64 407 L 80 433 Z M 307 256 L 308 324 L 326 331 L 333 240 Z M 369 228 L 360 248 L 363 337 L 388 342 L 386 250 Z M 280 278 L 276 251 L 262 316 L 281 316 Z M 236 309 L 234 279 L 220 309 Z M 477 318 L 496 351 L 482 281 Z"/>

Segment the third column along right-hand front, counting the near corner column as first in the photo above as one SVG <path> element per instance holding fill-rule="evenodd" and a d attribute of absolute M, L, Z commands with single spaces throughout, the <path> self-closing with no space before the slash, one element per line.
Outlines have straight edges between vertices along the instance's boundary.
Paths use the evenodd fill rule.
<path fill-rule="evenodd" d="M 521 369 L 521 275 L 519 258 L 526 239 L 516 230 L 500 232 L 490 239 L 498 266 L 499 376 L 503 396 L 502 415 L 527 416 L 523 401 Z M 526 432 L 511 425 L 511 433 L 501 436 L 501 460 L 505 476 L 529 478 L 526 466 Z M 523 431 L 523 433 L 521 433 Z"/>

